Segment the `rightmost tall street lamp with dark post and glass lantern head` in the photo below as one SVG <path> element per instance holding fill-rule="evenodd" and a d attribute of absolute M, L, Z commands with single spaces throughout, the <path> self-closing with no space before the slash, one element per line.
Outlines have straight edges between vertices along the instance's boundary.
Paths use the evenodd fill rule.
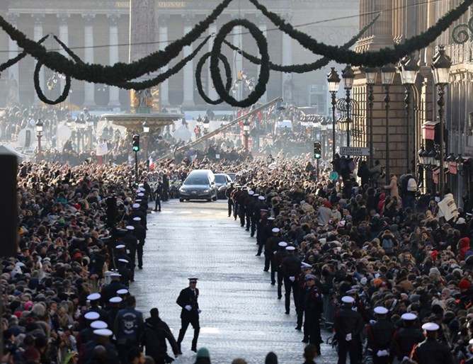
<path fill-rule="evenodd" d="M 443 106 L 445 101 L 443 95 L 445 94 L 445 85 L 448 84 L 450 76 L 450 67 L 452 62 L 450 57 L 445 55 L 445 47 L 441 45 L 437 53 L 433 56 L 432 73 L 433 81 L 438 86 L 438 116 L 440 118 L 440 198 L 445 194 L 445 170 L 443 169 L 443 159 L 445 158 L 445 143 L 443 142 Z"/>

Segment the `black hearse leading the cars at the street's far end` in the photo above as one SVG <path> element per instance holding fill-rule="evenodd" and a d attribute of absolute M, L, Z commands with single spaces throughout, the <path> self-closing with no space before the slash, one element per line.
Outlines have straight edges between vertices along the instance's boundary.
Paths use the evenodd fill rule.
<path fill-rule="evenodd" d="M 179 188 L 179 201 L 183 200 L 217 200 L 215 176 L 210 169 L 196 169 Z"/>

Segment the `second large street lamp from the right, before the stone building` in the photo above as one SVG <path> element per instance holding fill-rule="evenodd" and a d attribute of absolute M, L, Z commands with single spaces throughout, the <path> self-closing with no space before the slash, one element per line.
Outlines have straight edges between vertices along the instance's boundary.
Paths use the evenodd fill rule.
<path fill-rule="evenodd" d="M 411 144 L 409 142 L 409 134 L 411 133 L 411 120 L 410 120 L 410 103 L 411 103 L 411 87 L 416 83 L 420 67 L 412 57 L 404 57 L 399 62 L 399 71 L 401 72 L 401 82 L 404 85 L 406 96 L 404 97 L 404 103 L 406 103 L 406 166 L 407 169 L 414 171 L 415 164 L 414 159 L 411 160 Z M 412 166 L 411 166 L 412 162 Z"/>

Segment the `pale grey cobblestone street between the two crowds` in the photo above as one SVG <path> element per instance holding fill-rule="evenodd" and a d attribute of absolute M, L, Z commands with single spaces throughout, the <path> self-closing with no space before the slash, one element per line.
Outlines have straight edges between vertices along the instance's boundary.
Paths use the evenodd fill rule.
<path fill-rule="evenodd" d="M 198 348 L 210 351 L 212 363 L 231 363 L 246 358 L 264 363 L 274 351 L 279 363 L 302 363 L 302 333 L 295 330 L 295 308 L 284 314 L 284 300 L 277 300 L 276 286 L 263 272 L 263 256 L 255 256 L 256 239 L 227 217 L 227 203 L 163 204 L 162 212 L 148 217 L 144 269 L 136 271 L 130 291 L 137 308 L 149 317 L 158 307 L 160 316 L 177 338 L 181 307 L 176 304 L 187 278 L 197 276 L 200 289 L 200 337 Z M 176 364 L 193 363 L 190 351 L 192 327 L 182 343 L 183 356 Z M 326 339 L 328 333 L 323 332 Z M 169 353 L 171 350 L 169 348 Z M 317 363 L 333 363 L 336 354 L 326 344 Z"/>

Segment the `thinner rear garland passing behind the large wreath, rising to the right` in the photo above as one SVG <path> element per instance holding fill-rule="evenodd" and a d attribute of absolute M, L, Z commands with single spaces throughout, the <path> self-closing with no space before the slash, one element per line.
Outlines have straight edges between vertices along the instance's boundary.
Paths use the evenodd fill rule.
<path fill-rule="evenodd" d="M 371 28 L 371 26 L 377 21 L 377 18 L 379 18 L 381 13 L 377 14 L 375 18 L 370 21 L 365 27 L 358 32 L 357 35 L 353 36 L 351 40 L 348 40 L 344 45 L 341 46 L 341 49 L 343 50 L 348 50 L 352 45 L 354 45 L 358 39 L 361 38 L 363 33 L 365 33 L 366 30 Z M 251 63 L 254 64 L 261 64 L 261 59 L 258 57 L 255 57 L 253 55 L 250 55 L 248 52 L 245 52 L 244 50 L 239 49 L 239 47 L 236 47 L 232 45 L 231 42 L 228 40 L 224 40 L 224 43 L 228 45 L 232 50 L 239 52 L 243 57 L 248 59 Z M 325 67 L 327 64 L 329 64 L 330 59 L 327 57 L 323 57 L 321 59 L 317 59 L 317 61 L 312 62 L 312 63 L 304 63 L 304 64 L 292 64 L 290 66 L 283 66 L 281 64 L 275 64 L 273 62 L 269 62 L 269 68 L 272 71 L 278 71 L 278 72 L 286 72 L 286 73 L 297 73 L 297 74 L 303 74 L 306 72 L 311 72 L 311 71 L 316 71 L 317 69 L 321 69 L 322 67 Z"/>

